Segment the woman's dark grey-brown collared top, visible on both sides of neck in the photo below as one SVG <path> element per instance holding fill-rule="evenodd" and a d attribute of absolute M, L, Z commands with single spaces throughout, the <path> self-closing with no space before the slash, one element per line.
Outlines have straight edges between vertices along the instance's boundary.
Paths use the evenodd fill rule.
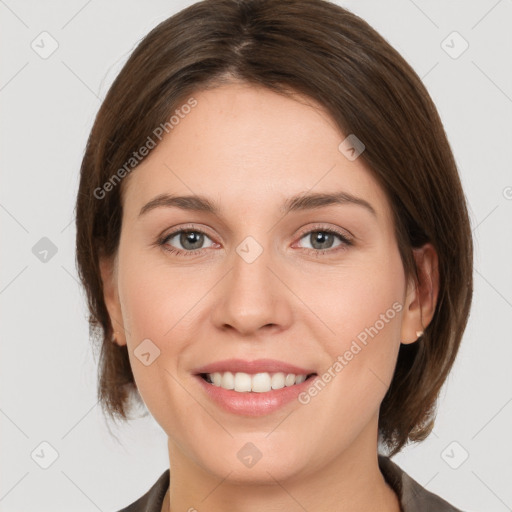
<path fill-rule="evenodd" d="M 462 512 L 427 491 L 388 457 L 379 455 L 379 468 L 396 492 L 402 512 Z M 160 512 L 169 487 L 169 475 L 170 471 L 166 469 L 146 494 L 118 512 Z"/>

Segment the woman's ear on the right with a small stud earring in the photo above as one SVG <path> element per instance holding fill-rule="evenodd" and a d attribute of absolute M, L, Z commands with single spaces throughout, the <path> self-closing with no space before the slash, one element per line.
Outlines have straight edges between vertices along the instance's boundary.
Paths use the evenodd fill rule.
<path fill-rule="evenodd" d="M 414 343 L 431 322 L 439 294 L 438 257 L 434 246 L 427 243 L 413 249 L 418 280 L 411 278 L 408 283 L 402 316 L 401 341 Z"/>

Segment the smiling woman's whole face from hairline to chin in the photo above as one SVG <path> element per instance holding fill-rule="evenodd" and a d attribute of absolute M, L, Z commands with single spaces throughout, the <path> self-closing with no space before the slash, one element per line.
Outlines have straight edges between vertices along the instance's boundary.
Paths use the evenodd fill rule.
<path fill-rule="evenodd" d="M 240 83 L 194 98 L 123 183 L 105 277 L 171 465 L 268 481 L 371 453 L 400 342 L 421 329 L 387 198 L 311 99 Z"/>

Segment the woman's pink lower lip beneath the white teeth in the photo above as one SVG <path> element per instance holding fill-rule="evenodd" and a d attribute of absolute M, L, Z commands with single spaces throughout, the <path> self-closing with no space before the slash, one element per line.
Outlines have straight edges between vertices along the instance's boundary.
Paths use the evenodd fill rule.
<path fill-rule="evenodd" d="M 195 375 L 206 394 L 224 410 L 245 416 L 262 416 L 270 414 L 293 400 L 305 391 L 317 375 L 306 379 L 300 384 L 285 386 L 281 389 L 273 389 L 264 393 L 248 391 L 241 393 L 232 389 L 224 389 L 206 382 L 200 375 Z M 298 402 L 299 403 L 299 402 Z"/>

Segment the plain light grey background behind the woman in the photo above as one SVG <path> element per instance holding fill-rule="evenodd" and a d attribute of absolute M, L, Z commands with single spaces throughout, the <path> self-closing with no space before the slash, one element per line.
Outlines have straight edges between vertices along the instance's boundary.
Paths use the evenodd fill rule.
<path fill-rule="evenodd" d="M 73 208 L 109 85 L 148 31 L 191 3 L 0 0 L 1 511 L 118 510 L 168 467 L 151 417 L 113 428 L 118 443 L 101 415 Z M 395 461 L 463 510 L 512 510 L 512 0 L 339 3 L 423 78 L 475 236 L 472 313 L 434 433 Z M 58 43 L 47 58 L 44 31 Z M 461 55 L 453 31 L 469 44 Z"/>

